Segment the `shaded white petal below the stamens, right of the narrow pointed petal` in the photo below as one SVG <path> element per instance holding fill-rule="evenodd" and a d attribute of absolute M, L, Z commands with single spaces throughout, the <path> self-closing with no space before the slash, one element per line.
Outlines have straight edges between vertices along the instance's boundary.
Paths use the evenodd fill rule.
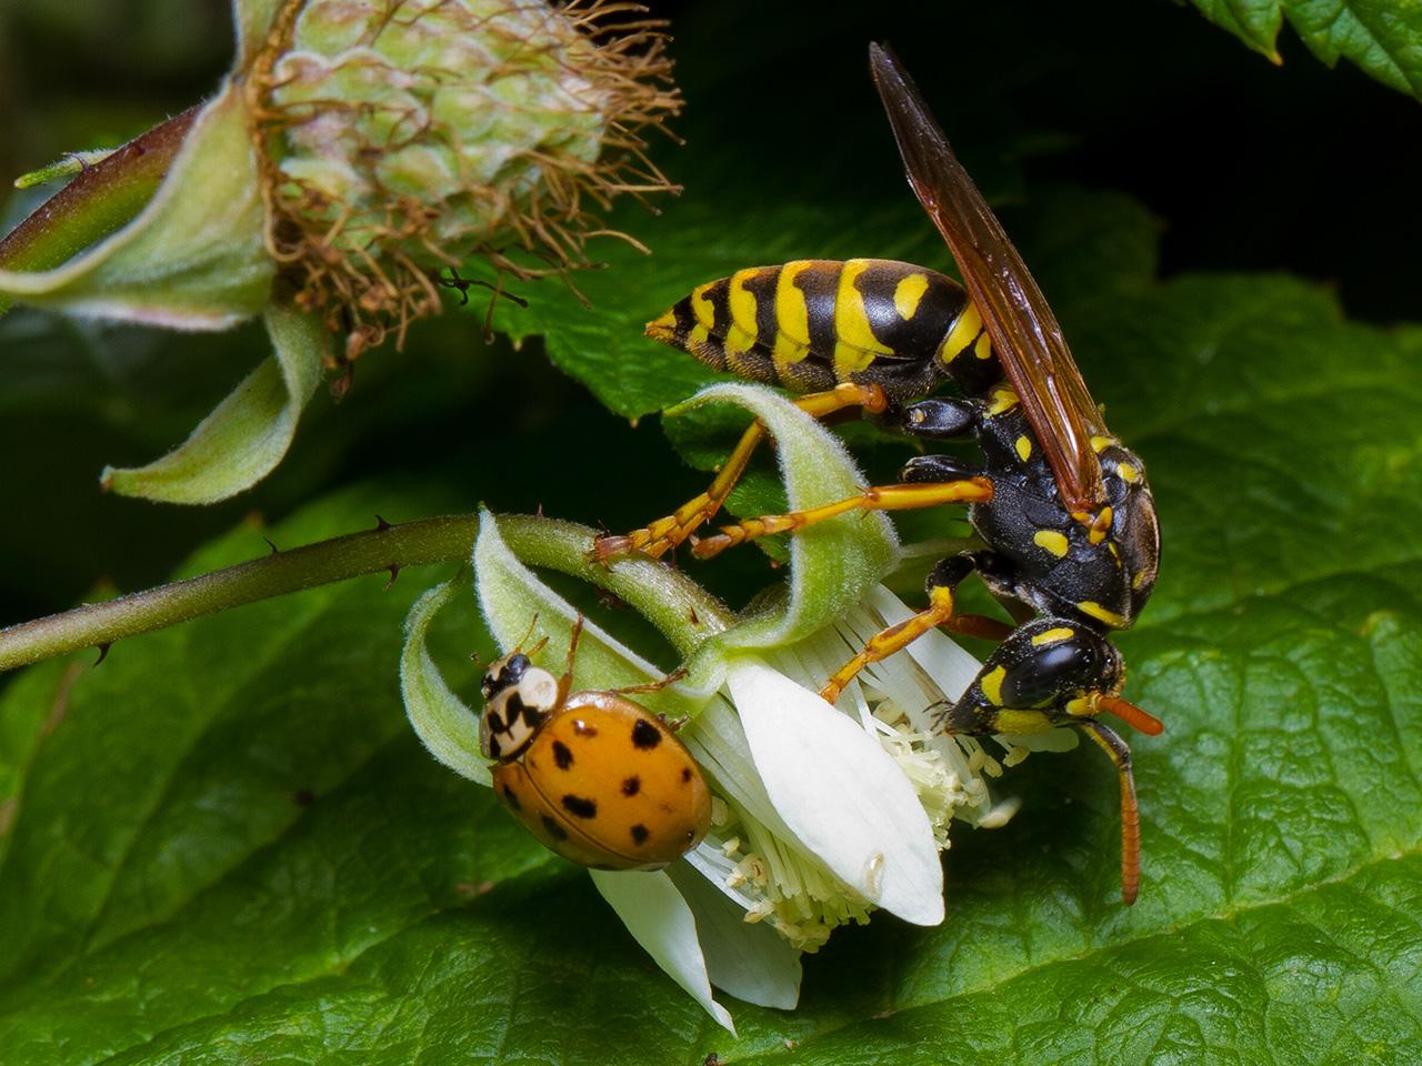
<path fill-rule="evenodd" d="M 695 914 L 711 984 L 757 1006 L 793 1011 L 801 952 L 766 922 L 745 921 L 745 908 L 691 866 L 673 863 L 667 874 Z"/>

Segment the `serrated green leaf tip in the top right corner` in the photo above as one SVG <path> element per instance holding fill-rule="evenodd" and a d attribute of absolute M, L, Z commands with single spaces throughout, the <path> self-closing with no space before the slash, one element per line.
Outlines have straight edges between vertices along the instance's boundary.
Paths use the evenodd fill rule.
<path fill-rule="evenodd" d="M 1284 20 L 1330 67 L 1352 60 L 1385 85 L 1422 98 L 1422 4 L 1415 0 L 1192 0 L 1206 18 L 1281 63 Z"/>

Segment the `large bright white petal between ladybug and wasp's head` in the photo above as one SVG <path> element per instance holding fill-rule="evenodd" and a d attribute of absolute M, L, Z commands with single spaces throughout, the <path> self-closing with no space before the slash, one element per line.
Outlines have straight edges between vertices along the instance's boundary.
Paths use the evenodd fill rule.
<path fill-rule="evenodd" d="M 917 925 L 943 921 L 933 827 L 893 758 L 815 692 L 757 659 L 728 685 L 776 812 L 836 877 Z"/>

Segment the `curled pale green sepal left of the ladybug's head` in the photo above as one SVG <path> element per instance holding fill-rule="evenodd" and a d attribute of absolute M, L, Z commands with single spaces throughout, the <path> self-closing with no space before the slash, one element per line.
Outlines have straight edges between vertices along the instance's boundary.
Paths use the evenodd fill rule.
<path fill-rule="evenodd" d="M 445 684 L 429 658 L 425 635 L 439 614 L 468 584 L 466 576 L 435 586 L 415 600 L 405 618 L 405 647 L 400 652 L 400 694 L 410 725 L 429 753 L 455 773 L 488 786 L 489 763 L 479 750 L 479 721 Z"/>

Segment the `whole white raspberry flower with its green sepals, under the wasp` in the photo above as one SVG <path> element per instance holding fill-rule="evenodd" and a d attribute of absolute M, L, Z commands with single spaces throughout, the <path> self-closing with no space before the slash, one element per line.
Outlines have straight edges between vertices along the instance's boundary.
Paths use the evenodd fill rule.
<path fill-rule="evenodd" d="M 848 453 L 822 426 L 768 389 L 717 387 L 701 402 L 734 402 L 772 431 L 792 506 L 836 497 L 857 483 Z M 656 962 L 721 1025 L 715 999 L 788 1009 L 799 995 L 801 955 L 832 931 L 883 910 L 919 924 L 944 917 L 940 850 L 953 819 L 1003 824 L 984 775 L 1001 763 L 977 741 L 929 729 L 926 708 L 957 696 L 978 664 L 930 634 L 875 664 L 838 706 L 815 692 L 823 678 L 887 621 L 909 615 L 880 578 L 897 560 L 892 526 L 845 516 L 791 546 L 779 594 L 732 615 L 705 590 L 646 559 L 587 561 L 594 530 L 485 512 L 474 586 L 489 631 L 509 650 L 529 635 L 560 662 L 577 610 L 530 566 L 603 584 L 656 624 L 685 662 L 685 679 L 636 696 L 667 721 L 705 775 L 711 830 L 665 870 L 593 871 L 599 891 Z M 811 532 L 815 536 L 811 536 Z M 414 607 L 401 662 L 405 706 L 429 750 L 488 785 L 475 711 L 448 688 L 425 635 L 465 584 L 456 578 Z M 665 674 L 594 624 L 583 632 L 574 688 L 621 688 Z M 1008 749 L 1004 762 L 1025 752 Z"/>

